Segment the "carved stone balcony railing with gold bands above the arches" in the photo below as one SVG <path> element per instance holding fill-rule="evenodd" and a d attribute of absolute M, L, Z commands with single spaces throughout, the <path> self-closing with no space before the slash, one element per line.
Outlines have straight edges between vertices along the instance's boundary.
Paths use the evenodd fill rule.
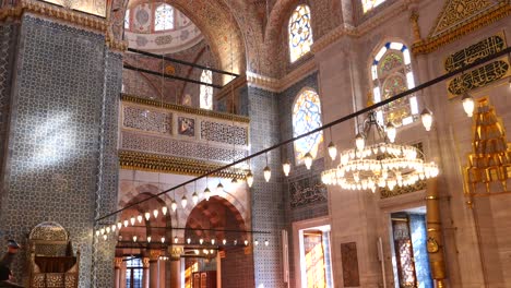
<path fill-rule="evenodd" d="M 200 175 L 249 153 L 247 117 L 126 94 L 120 117 L 121 168 Z M 218 176 L 241 177 L 241 171 Z"/>

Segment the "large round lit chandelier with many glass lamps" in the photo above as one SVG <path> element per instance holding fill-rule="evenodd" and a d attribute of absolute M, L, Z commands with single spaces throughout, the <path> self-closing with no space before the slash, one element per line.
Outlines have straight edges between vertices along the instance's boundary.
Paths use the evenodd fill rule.
<path fill-rule="evenodd" d="M 418 148 L 393 143 L 395 127 L 389 122 L 383 128 L 378 123 L 376 112 L 368 115 L 361 131 L 355 139 L 356 147 L 340 154 L 340 165 L 321 173 L 324 184 L 375 193 L 377 188 L 393 190 L 438 176 L 437 165 L 424 163 Z M 371 135 L 372 144 L 366 143 Z"/>

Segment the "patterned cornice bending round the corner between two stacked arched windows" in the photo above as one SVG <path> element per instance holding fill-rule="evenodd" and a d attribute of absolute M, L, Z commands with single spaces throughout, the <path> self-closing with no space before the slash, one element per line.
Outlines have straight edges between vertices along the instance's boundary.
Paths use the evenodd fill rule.
<path fill-rule="evenodd" d="M 304 77 L 314 73 L 316 71 L 318 71 L 318 67 L 316 65 L 314 60 L 309 59 L 282 79 L 272 79 L 248 72 L 247 81 L 250 86 L 280 93 L 287 89 Z"/>

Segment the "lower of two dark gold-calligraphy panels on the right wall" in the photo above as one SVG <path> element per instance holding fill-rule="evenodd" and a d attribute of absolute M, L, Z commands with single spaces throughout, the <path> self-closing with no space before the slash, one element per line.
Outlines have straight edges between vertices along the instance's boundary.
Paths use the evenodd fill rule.
<path fill-rule="evenodd" d="M 462 95 L 465 91 L 484 87 L 510 75 L 508 57 L 503 57 L 448 81 L 448 96 L 451 99 L 457 95 Z"/>

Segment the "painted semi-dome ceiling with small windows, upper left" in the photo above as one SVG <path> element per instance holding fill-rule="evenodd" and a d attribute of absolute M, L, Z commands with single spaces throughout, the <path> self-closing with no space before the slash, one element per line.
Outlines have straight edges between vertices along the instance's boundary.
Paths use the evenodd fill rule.
<path fill-rule="evenodd" d="M 175 53 L 193 47 L 204 38 L 190 19 L 169 4 L 141 3 L 128 11 L 124 36 L 131 48 Z"/>

